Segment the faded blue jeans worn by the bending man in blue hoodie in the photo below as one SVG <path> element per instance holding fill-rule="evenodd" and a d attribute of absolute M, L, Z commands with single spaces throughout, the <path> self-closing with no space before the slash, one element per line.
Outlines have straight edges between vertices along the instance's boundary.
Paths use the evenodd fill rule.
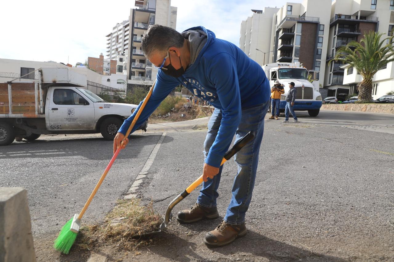
<path fill-rule="evenodd" d="M 238 142 L 249 131 L 255 131 L 255 137 L 251 142 L 246 144 L 238 153 L 234 160 L 238 166 L 238 174 L 234 179 L 232 186 L 232 197 L 230 205 L 227 208 L 224 221 L 232 225 L 240 225 L 245 221 L 245 213 L 252 199 L 253 187 L 255 186 L 256 171 L 258 164 L 258 153 L 264 132 L 264 117 L 269 107 L 269 101 L 262 105 L 242 110 L 241 122 L 235 133 L 235 142 Z M 208 133 L 204 142 L 204 155 L 208 155 L 209 149 L 215 141 L 221 122 L 222 114 L 220 109 L 215 109 L 208 122 Z M 219 187 L 221 172 L 213 179 L 203 183 L 197 203 L 203 207 L 216 207 L 216 198 L 219 196 L 217 188 Z"/>

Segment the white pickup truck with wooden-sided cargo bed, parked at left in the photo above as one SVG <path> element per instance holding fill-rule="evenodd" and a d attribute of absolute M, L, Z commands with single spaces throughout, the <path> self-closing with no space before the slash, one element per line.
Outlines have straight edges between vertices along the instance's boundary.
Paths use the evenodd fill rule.
<path fill-rule="evenodd" d="M 0 83 L 0 146 L 15 137 L 101 133 L 113 140 L 137 105 L 109 103 L 86 89 L 87 77 L 72 68 L 40 68 L 38 79 Z M 147 122 L 138 129 L 146 131 Z"/>

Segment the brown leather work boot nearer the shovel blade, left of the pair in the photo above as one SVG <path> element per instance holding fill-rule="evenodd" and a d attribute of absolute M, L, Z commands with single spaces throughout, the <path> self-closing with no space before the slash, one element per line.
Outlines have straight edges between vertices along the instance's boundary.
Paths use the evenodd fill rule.
<path fill-rule="evenodd" d="M 197 203 L 189 210 L 182 210 L 178 212 L 177 220 L 179 223 L 193 223 L 204 218 L 215 219 L 219 217 L 216 207 L 203 207 Z"/>

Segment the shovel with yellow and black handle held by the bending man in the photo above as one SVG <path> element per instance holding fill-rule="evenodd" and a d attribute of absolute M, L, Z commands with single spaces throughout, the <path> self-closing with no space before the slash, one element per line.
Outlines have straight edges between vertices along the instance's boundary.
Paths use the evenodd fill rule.
<path fill-rule="evenodd" d="M 245 137 L 243 137 L 241 140 L 236 142 L 234 144 L 234 146 L 232 146 L 232 148 L 229 151 L 227 151 L 227 153 L 224 155 L 223 160 L 220 165 L 223 165 L 227 160 L 229 160 L 233 155 L 235 155 L 238 151 L 240 151 L 240 149 L 243 148 L 243 146 L 245 146 L 245 144 L 250 142 L 254 137 L 255 137 L 255 132 L 250 131 L 249 133 L 247 133 L 245 135 Z M 177 197 L 175 197 L 173 201 L 171 201 L 171 203 L 167 207 L 167 210 L 165 211 L 164 221 L 160 225 L 158 231 L 141 234 L 140 237 L 143 237 L 143 238 L 150 237 L 152 235 L 155 235 L 155 234 L 158 234 L 158 233 L 164 231 L 165 227 L 167 227 L 167 224 L 172 219 L 173 215 L 172 215 L 171 211 L 173 210 L 175 205 L 177 205 L 180 201 L 182 201 L 182 199 L 187 197 L 191 193 L 191 191 L 195 190 L 195 188 L 197 186 L 201 185 L 201 183 L 203 183 L 203 175 L 201 175 L 196 181 L 191 183 L 191 185 L 188 186 L 188 188 L 186 188 L 182 193 L 180 193 Z"/>

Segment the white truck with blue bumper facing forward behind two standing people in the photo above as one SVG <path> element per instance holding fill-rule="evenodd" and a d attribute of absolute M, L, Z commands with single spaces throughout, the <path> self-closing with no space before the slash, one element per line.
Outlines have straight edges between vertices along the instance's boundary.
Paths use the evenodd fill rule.
<path fill-rule="evenodd" d="M 290 90 L 289 83 L 294 82 L 297 97 L 294 102 L 294 111 L 308 111 L 310 116 L 317 116 L 322 107 L 322 95 L 319 92 L 319 75 L 315 70 L 307 70 L 299 62 L 271 63 L 262 66 L 271 87 L 278 80 L 284 86 L 279 109 L 284 111 L 286 94 Z"/>

